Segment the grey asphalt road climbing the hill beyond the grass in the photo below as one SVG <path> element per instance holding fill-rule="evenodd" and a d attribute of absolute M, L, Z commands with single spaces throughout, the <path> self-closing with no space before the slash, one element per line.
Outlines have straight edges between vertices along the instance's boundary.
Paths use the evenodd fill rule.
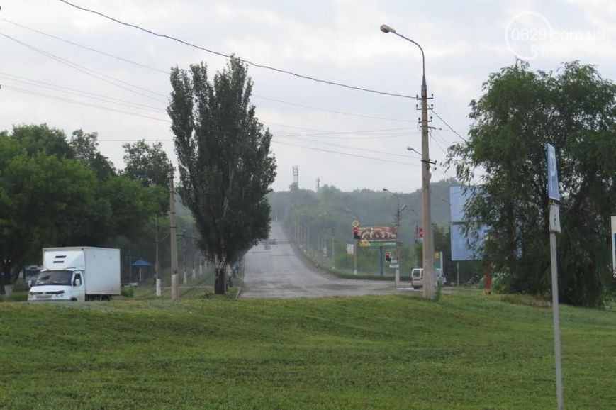
<path fill-rule="evenodd" d="M 259 244 L 245 257 L 244 285 L 240 294 L 242 298 L 421 292 L 421 289 L 412 289 L 409 283 L 403 283 L 402 287 L 396 289 L 390 281 L 339 279 L 308 267 L 301 256 L 296 255 L 279 223 L 271 223 L 270 238 L 276 238 L 276 245 L 265 249 L 264 245 Z"/>

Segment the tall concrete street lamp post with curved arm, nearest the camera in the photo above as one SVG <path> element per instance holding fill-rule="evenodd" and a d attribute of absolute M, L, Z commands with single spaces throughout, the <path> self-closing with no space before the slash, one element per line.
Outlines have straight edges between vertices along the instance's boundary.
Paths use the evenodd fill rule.
<path fill-rule="evenodd" d="M 435 297 L 435 270 L 434 270 L 434 238 L 432 238 L 432 217 L 430 216 L 430 152 L 427 128 L 427 86 L 425 83 L 425 55 L 421 45 L 396 33 L 396 30 L 383 24 L 383 33 L 393 33 L 398 37 L 418 46 L 421 51 L 422 82 L 421 82 L 421 186 L 422 186 L 422 223 L 423 223 L 423 297 Z"/>

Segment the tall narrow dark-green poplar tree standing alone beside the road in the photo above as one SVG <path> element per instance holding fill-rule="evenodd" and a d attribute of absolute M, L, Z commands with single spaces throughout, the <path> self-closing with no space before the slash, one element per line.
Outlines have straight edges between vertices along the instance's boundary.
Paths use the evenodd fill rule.
<path fill-rule="evenodd" d="M 172 69 L 171 104 L 181 195 L 215 263 L 215 292 L 224 294 L 226 267 L 269 233 L 265 195 L 276 176 L 271 134 L 250 104 L 247 67 L 231 58 L 208 81 L 206 66 Z"/>

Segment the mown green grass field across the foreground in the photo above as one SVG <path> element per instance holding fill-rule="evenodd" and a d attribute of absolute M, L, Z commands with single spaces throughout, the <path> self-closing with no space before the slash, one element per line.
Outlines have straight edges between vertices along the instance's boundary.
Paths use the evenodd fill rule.
<path fill-rule="evenodd" d="M 497 297 L 0 304 L 9 409 L 554 409 L 551 309 Z M 167 295 L 168 296 L 168 295 Z M 141 299 L 140 299 L 141 298 Z M 616 403 L 616 313 L 561 307 L 568 409 Z"/>

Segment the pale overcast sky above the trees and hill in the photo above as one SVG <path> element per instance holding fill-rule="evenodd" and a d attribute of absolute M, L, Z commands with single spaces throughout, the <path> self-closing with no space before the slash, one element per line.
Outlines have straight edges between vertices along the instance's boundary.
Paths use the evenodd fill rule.
<path fill-rule="evenodd" d="M 610 0 L 69 1 L 259 65 L 420 94 L 421 52 L 382 33 L 387 24 L 425 52 L 428 94 L 434 94 L 432 181 L 455 176 L 440 162 L 447 147 L 461 141 L 457 134 L 466 138 L 469 103 L 492 72 L 517 58 L 531 70 L 554 72 L 580 60 L 604 78 L 616 77 L 616 1 Z M 125 143 L 160 141 L 177 162 L 165 111 L 169 69 L 205 62 L 213 77 L 225 57 L 60 0 L 4 0 L 0 6 L 0 130 L 47 123 L 67 135 L 96 132 L 99 150 L 118 169 Z M 274 135 L 275 191 L 289 189 L 294 166 L 303 189 L 315 189 L 317 179 L 343 191 L 421 187 L 420 156 L 407 150 L 421 151 L 419 101 L 254 66 L 249 75 L 259 121 Z"/>

